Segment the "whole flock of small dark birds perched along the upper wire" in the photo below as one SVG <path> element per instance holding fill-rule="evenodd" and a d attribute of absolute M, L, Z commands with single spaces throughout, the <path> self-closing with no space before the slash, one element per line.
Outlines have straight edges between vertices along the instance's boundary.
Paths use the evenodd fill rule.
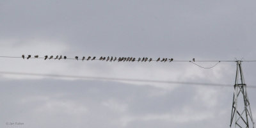
<path fill-rule="evenodd" d="M 25 57 L 25 55 L 24 54 L 22 54 L 22 58 L 23 59 L 29 59 L 29 58 L 31 58 L 32 56 L 31 55 L 28 55 L 27 57 Z M 36 56 L 34 56 L 34 58 L 39 58 L 39 56 L 38 55 L 36 55 Z M 79 59 L 79 57 L 78 56 L 75 56 L 75 58 L 67 58 L 67 56 L 44 56 L 44 60 L 47 60 L 47 59 L 49 59 L 49 60 L 61 60 L 61 59 L 64 59 L 64 60 L 66 60 L 66 59 L 75 59 L 75 60 L 82 60 L 82 61 L 84 61 L 84 60 L 86 60 L 86 61 L 88 61 L 88 60 L 101 60 L 101 61 L 118 61 L 118 62 L 120 62 L 120 61 L 138 61 L 138 62 L 143 62 L 143 61 L 148 61 L 148 62 L 150 62 L 150 61 L 161 61 L 161 62 L 166 62 L 166 61 L 169 61 L 169 62 L 171 62 L 171 61 L 173 61 L 173 58 L 158 58 L 157 60 L 153 60 L 152 58 L 138 58 L 138 60 L 136 60 L 136 58 L 133 58 L 133 57 L 127 57 L 127 58 L 125 58 L 125 57 L 119 57 L 119 58 L 116 58 L 116 57 L 113 57 L 113 56 L 108 56 L 108 57 L 103 57 L 103 56 L 101 56 L 99 59 L 97 59 L 96 58 L 96 56 L 93 56 L 93 57 L 91 57 L 91 56 L 88 56 L 88 58 L 86 58 L 86 57 L 84 57 L 83 56 L 83 58 L 82 59 Z M 192 61 L 195 61 L 195 58 L 193 58 L 193 60 Z"/>

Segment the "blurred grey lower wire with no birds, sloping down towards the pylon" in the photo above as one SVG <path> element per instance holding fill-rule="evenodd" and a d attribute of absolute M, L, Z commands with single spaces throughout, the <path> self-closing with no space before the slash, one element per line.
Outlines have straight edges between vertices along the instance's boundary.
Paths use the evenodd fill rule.
<path fill-rule="evenodd" d="M 77 79 L 95 79 L 95 80 L 101 80 L 101 81 L 131 81 L 131 82 L 144 82 L 144 83 L 191 84 L 191 85 L 202 85 L 202 86 L 232 87 L 232 84 L 191 83 L 191 82 L 161 81 L 161 80 L 150 80 L 150 79 L 126 79 L 126 78 L 116 78 L 116 77 L 69 76 L 69 75 L 58 75 L 58 74 L 35 74 L 35 73 L 24 73 L 24 72 L 0 72 L 0 74 L 20 75 L 20 76 L 44 76 L 44 77 L 66 77 L 66 78 L 77 78 Z M 248 86 L 248 88 L 256 88 L 256 86 Z"/>

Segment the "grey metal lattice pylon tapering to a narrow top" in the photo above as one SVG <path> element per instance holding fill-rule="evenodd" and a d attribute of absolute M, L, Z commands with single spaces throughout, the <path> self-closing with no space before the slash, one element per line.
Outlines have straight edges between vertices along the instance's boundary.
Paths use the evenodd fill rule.
<path fill-rule="evenodd" d="M 241 62 L 237 61 L 230 128 L 249 128 L 249 126 L 255 128 Z"/>

